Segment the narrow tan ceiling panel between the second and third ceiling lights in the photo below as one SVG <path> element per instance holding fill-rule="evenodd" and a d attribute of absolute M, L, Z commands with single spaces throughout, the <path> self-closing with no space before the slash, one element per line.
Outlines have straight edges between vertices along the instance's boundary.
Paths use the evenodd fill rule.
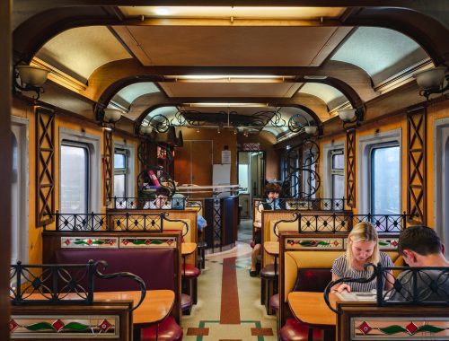
<path fill-rule="evenodd" d="M 290 98 L 298 83 L 159 83 L 169 97 Z"/>

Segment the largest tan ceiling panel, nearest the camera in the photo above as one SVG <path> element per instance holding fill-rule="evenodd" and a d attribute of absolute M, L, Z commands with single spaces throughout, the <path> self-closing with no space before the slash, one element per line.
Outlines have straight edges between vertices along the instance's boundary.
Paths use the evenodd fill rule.
<path fill-rule="evenodd" d="M 115 26 L 144 66 L 320 66 L 351 28 Z"/>

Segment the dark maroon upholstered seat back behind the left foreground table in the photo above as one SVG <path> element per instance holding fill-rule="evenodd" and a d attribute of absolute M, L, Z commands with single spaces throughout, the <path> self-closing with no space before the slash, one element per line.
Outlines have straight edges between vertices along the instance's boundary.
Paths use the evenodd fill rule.
<path fill-rule="evenodd" d="M 100 271 L 105 274 L 130 272 L 141 277 L 146 290 L 169 289 L 174 286 L 174 249 L 58 249 L 58 264 L 83 264 L 105 260 L 108 267 Z M 139 287 L 130 279 L 95 278 L 95 291 L 132 291 Z"/>

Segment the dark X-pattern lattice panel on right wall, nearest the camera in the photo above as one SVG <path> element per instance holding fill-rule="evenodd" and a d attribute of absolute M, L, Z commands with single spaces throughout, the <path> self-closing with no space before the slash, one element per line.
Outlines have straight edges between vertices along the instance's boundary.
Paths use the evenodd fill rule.
<path fill-rule="evenodd" d="M 409 222 L 427 223 L 426 108 L 407 113 L 407 212 Z"/>

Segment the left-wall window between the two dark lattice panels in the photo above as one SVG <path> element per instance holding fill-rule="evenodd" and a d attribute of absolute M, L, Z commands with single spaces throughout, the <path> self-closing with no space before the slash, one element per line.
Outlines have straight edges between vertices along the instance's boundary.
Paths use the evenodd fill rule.
<path fill-rule="evenodd" d="M 61 205 L 64 214 L 89 212 L 89 146 L 63 141 L 61 145 Z"/>

